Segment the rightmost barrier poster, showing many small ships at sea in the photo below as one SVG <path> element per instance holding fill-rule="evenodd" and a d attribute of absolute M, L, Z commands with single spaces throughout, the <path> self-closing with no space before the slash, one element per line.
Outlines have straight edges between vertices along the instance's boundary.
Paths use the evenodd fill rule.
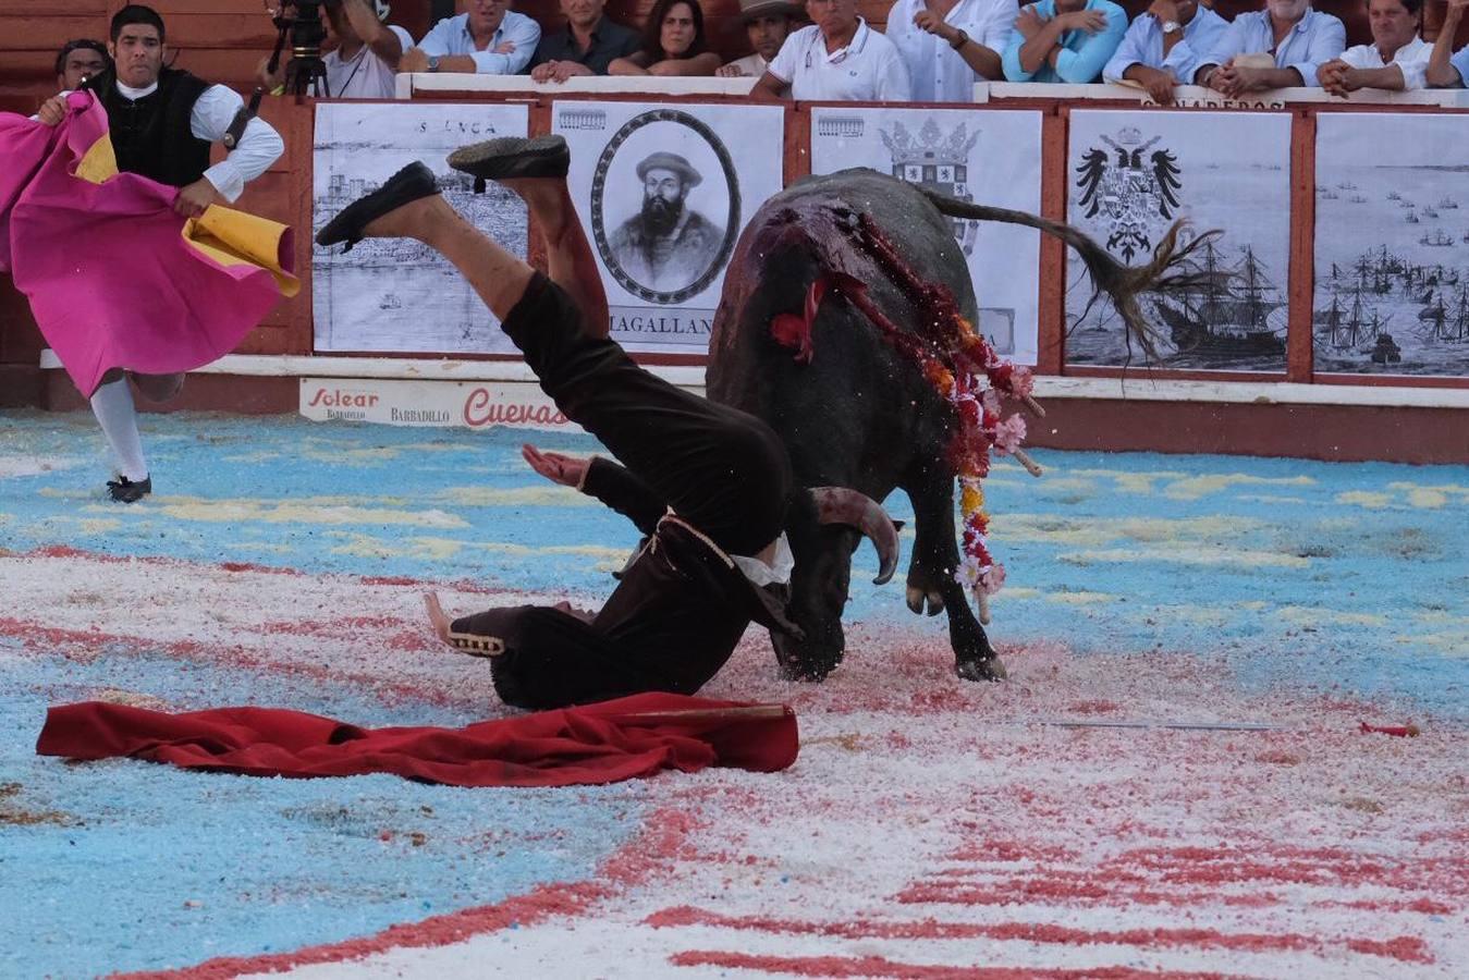
<path fill-rule="evenodd" d="M 1463 116 L 1316 119 L 1315 370 L 1469 375 Z"/>

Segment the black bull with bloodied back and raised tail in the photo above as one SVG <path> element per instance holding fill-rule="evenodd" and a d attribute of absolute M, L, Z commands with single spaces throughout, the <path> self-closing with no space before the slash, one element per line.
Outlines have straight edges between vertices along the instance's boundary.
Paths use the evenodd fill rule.
<path fill-rule="evenodd" d="M 1190 256 L 1205 238 L 1178 247 L 1175 226 L 1152 264 L 1128 269 L 1075 229 L 1022 212 L 964 204 L 874 170 L 806 178 L 770 198 L 740 235 L 714 317 L 707 385 L 710 398 L 765 420 L 784 439 L 799 483 L 849 486 L 878 501 L 895 488 L 906 491 L 915 519 L 908 605 L 930 616 L 948 611 L 959 676 L 995 680 L 1003 667 L 955 580 L 955 473 L 946 461 L 953 410 L 843 295 L 843 287 L 862 284 L 889 320 L 921 329 L 923 304 L 895 276 L 892 259 L 871 245 L 876 229 L 905 272 L 948 287 L 959 313 L 975 323 L 970 270 L 946 215 L 1062 237 L 1149 353 L 1153 335 L 1136 294 L 1190 285 L 1197 275 Z M 809 363 L 773 339 L 777 317 L 809 326 Z M 861 535 L 802 513 L 786 532 L 795 555 L 787 611 L 806 636 L 771 639 L 787 676 L 818 680 L 842 660 L 842 608 Z"/>

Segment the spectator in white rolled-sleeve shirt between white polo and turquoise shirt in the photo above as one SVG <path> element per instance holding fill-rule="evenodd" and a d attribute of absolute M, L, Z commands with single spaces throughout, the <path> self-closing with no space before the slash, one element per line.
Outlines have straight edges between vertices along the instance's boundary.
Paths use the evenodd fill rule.
<path fill-rule="evenodd" d="M 974 82 L 1005 78 L 1000 51 L 1015 0 L 898 0 L 887 37 L 908 65 L 917 101 L 974 101 Z"/>

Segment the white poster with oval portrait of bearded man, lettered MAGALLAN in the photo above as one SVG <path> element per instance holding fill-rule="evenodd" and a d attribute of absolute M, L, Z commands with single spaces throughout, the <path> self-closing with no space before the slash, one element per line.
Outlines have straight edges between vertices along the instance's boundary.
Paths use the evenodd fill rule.
<path fill-rule="evenodd" d="M 632 351 L 708 351 L 734 242 L 783 187 L 779 106 L 557 100 L 571 197 Z"/>

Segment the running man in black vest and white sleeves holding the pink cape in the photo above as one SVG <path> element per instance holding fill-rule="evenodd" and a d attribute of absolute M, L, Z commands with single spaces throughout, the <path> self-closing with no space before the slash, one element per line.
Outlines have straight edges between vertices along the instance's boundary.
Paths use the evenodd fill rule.
<path fill-rule="evenodd" d="M 151 7 L 128 4 L 112 19 L 113 71 L 90 78 L 87 88 L 107 110 L 118 169 L 179 188 L 173 210 L 198 217 L 210 204 L 235 201 L 285 148 L 261 119 L 247 119 L 244 100 L 223 85 L 163 68 L 163 18 Z M 41 106 L 37 118 L 54 126 L 66 118 L 66 93 Z M 210 166 L 210 150 L 231 129 L 235 148 Z M 93 413 L 112 445 L 118 472 L 107 482 L 113 500 L 131 504 L 153 492 L 142 455 L 138 416 L 128 375 L 153 401 L 175 397 L 184 375 L 135 375 L 118 367 L 91 395 Z"/>

